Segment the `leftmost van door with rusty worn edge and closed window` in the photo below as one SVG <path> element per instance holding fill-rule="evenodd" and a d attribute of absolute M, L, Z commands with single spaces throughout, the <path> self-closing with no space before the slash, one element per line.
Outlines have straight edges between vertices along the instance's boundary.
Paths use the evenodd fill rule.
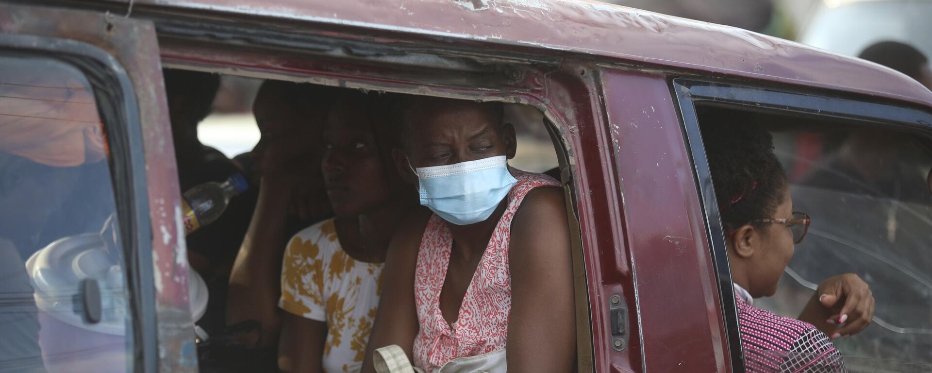
<path fill-rule="evenodd" d="M 0 5 L 0 31 L 0 371 L 195 370 L 153 25 Z"/>

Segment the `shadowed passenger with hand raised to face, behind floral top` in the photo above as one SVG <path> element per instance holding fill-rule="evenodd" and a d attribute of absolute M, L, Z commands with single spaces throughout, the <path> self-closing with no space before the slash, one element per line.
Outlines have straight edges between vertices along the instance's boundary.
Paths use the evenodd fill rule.
<path fill-rule="evenodd" d="M 254 321 L 254 345 L 269 350 L 279 340 L 281 258 L 288 239 L 330 214 L 322 195 L 322 128 L 336 89 L 268 80 L 253 111 L 261 138 L 250 154 L 259 175 L 258 201 L 230 274 L 226 325 Z M 301 206 L 295 208 L 295 206 Z M 302 218 L 295 211 L 307 211 Z M 273 367 L 274 368 L 274 367 Z"/>

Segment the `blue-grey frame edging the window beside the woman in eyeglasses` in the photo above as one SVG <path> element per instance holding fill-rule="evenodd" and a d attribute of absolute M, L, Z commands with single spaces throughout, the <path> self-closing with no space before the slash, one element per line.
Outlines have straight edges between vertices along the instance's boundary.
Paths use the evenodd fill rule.
<path fill-rule="evenodd" d="M 692 154 L 693 173 L 704 212 L 706 236 L 710 243 L 709 254 L 712 256 L 719 283 L 720 306 L 728 335 L 732 369 L 733 372 L 744 373 L 746 371 L 745 356 L 741 348 L 732 272 L 728 263 L 725 235 L 721 227 L 721 216 L 718 201 L 715 198 L 712 174 L 709 171 L 708 159 L 706 159 L 706 148 L 702 142 L 699 118 L 696 116 L 696 104 L 718 104 L 745 110 L 762 109 L 772 113 L 796 113 L 858 122 L 868 121 L 886 128 L 898 127 L 897 130 L 901 131 L 922 131 L 927 135 L 932 135 L 932 114 L 905 104 L 884 101 L 868 102 L 863 96 L 848 98 L 837 93 L 832 95 L 799 90 L 775 90 L 769 87 L 748 86 L 747 83 L 710 81 L 698 77 L 674 78 L 672 90 L 678 102 L 686 144 Z M 735 351 L 741 353 L 733 353 Z"/>

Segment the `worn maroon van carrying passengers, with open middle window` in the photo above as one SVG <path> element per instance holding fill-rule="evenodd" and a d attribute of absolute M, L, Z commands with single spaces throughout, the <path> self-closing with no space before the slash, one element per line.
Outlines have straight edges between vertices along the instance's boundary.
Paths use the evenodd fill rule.
<path fill-rule="evenodd" d="M 849 370 L 932 369 L 932 92 L 892 70 L 587 0 L 16 3 L 0 371 L 198 370 L 163 67 L 540 111 L 574 236 L 576 319 L 555 322 L 576 323 L 581 372 L 745 371 L 701 131 L 757 116 L 816 237 L 766 307 L 855 272 L 877 308 L 836 341 Z"/>

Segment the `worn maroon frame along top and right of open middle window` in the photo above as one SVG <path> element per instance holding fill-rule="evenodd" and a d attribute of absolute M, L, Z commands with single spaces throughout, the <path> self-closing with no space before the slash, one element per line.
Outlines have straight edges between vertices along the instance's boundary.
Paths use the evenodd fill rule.
<path fill-rule="evenodd" d="M 554 151 L 557 156 L 558 167 L 561 169 L 562 174 L 569 175 L 569 179 L 560 180 L 561 187 L 564 189 L 567 197 L 567 214 L 569 219 L 570 228 L 576 228 L 576 233 L 570 231 L 570 243 L 572 255 L 573 255 L 573 275 L 574 275 L 574 289 L 579 290 L 580 285 L 576 281 L 581 282 L 584 285 L 584 294 L 576 296 L 574 298 L 575 310 L 577 314 L 574 317 L 574 322 L 577 323 L 576 330 L 576 339 L 577 343 L 585 343 L 584 347 L 577 345 L 577 352 L 580 355 L 577 356 L 576 366 L 596 366 L 599 362 L 597 358 L 597 347 L 598 344 L 605 343 L 603 338 L 596 338 L 596 321 L 594 320 L 594 314 L 600 312 L 601 308 L 596 308 L 593 306 L 593 298 L 596 297 L 594 293 L 594 287 L 590 276 L 592 276 L 591 269 L 587 270 L 589 266 L 593 263 L 592 259 L 587 257 L 587 244 L 585 242 L 585 235 L 580 229 L 580 212 L 578 203 L 580 197 L 577 194 L 577 180 L 580 178 L 580 173 L 578 172 L 578 165 L 576 161 L 577 157 L 580 157 L 577 151 L 574 151 L 574 145 L 570 139 L 568 131 L 566 129 L 571 128 L 567 120 L 561 119 L 561 117 L 556 114 L 555 107 L 558 105 L 554 103 L 549 103 L 546 100 L 542 100 L 536 97 L 528 97 L 529 95 L 523 95 L 523 92 L 520 89 L 515 89 L 514 87 L 509 87 L 509 84 L 523 80 L 525 72 L 520 70 L 526 68 L 525 64 L 528 62 L 537 61 L 536 58 L 533 58 L 533 55 L 527 55 L 518 59 L 517 57 L 511 55 L 505 55 L 505 57 L 500 57 L 494 59 L 497 65 L 498 70 L 487 70 L 489 66 L 484 66 L 472 71 L 474 67 L 470 65 L 459 65 L 458 63 L 451 63 L 447 59 L 447 53 L 444 51 L 449 51 L 449 48 L 435 48 L 431 47 L 421 47 L 418 50 L 418 56 L 415 59 L 410 61 L 405 61 L 402 58 L 396 58 L 391 61 L 380 61 L 381 57 L 375 54 L 376 57 L 369 55 L 367 53 L 359 53 L 365 48 L 372 48 L 371 43 L 363 42 L 348 42 L 338 35 L 329 35 L 326 37 L 319 37 L 313 39 L 316 43 L 312 46 L 313 48 L 308 48 L 307 45 L 300 44 L 301 47 L 295 47 L 299 44 L 294 44 L 289 47 L 290 50 L 281 50 L 274 48 L 275 46 L 281 44 L 281 41 L 275 41 L 275 39 L 267 38 L 265 35 L 279 35 L 275 32 L 260 31 L 256 32 L 255 35 L 263 36 L 254 36 L 250 40 L 250 46 L 254 47 L 251 52 L 256 50 L 266 51 L 269 56 L 275 56 L 277 63 L 285 65 L 282 61 L 295 61 L 296 59 L 302 59 L 305 62 L 326 62 L 333 64 L 330 71 L 322 71 L 319 66 L 306 65 L 297 68 L 289 68 L 287 71 L 281 69 L 280 66 L 272 66 L 269 68 L 267 65 L 262 63 L 251 62 L 250 65 L 240 65 L 235 69 L 231 68 L 232 64 L 226 61 L 216 61 L 211 59 L 191 59 L 190 55 L 187 53 L 192 53 L 197 55 L 203 53 L 204 50 L 218 50 L 226 53 L 227 55 L 242 55 L 244 51 L 231 48 L 229 45 L 218 44 L 211 46 L 209 48 L 203 48 L 199 44 L 195 44 L 194 39 L 190 37 L 195 35 L 202 35 L 205 33 L 203 29 L 206 27 L 203 24 L 199 24 L 196 27 L 190 25 L 184 25 L 181 23 L 176 24 L 172 21 L 161 21 L 156 19 L 156 24 L 159 29 L 159 48 L 162 52 L 162 66 L 166 68 L 182 69 L 182 70 L 192 70 L 200 71 L 205 73 L 212 74 L 221 74 L 221 75 L 230 75 L 230 76 L 244 76 L 244 77 L 253 77 L 259 79 L 268 79 L 268 80 L 281 80 L 281 81 L 290 81 L 297 83 L 307 83 L 321 86 L 329 87 L 340 87 L 342 89 L 348 90 L 363 90 L 363 91 L 377 91 L 377 92 L 391 92 L 395 94 L 404 94 L 404 95 L 426 95 L 433 97 L 445 97 L 452 99 L 460 100 L 477 100 L 477 101 L 489 101 L 489 102 L 501 102 L 505 104 L 524 104 L 534 107 L 536 110 L 541 112 L 543 116 L 543 123 L 550 134 L 551 141 L 554 142 L 555 148 Z M 237 33 L 242 32 L 242 27 L 234 27 L 224 30 L 226 32 L 232 33 L 229 35 L 239 35 Z M 225 34 L 226 35 L 226 34 Z M 304 40 L 304 39 L 299 39 Z M 290 40 L 290 42 L 297 43 L 295 40 Z M 189 44 L 190 43 L 190 44 Z M 332 53 L 321 53 L 319 50 L 322 48 L 322 45 L 333 45 L 342 46 L 349 45 L 356 50 L 359 55 L 338 55 L 335 56 Z M 387 48 L 387 47 L 381 47 Z M 362 55 L 362 57 L 360 56 Z M 479 59 L 485 59 L 487 57 L 482 56 L 481 54 L 475 53 L 472 49 L 465 49 L 457 51 L 458 56 L 469 56 Z M 375 60 L 373 60 L 375 58 Z M 458 57 L 459 58 L 459 57 Z M 194 61 L 196 60 L 196 61 Z M 516 61 L 521 62 L 516 62 Z M 399 63 L 404 62 L 404 63 Z M 378 65 L 384 64 L 389 66 L 391 74 L 396 76 L 391 76 L 387 74 L 386 76 L 391 76 L 393 81 L 391 83 L 386 83 L 386 76 L 378 76 L 376 72 L 367 71 L 362 66 L 367 65 Z M 351 70 L 348 66 L 352 66 L 358 70 Z M 463 80 L 474 81 L 476 84 L 457 84 L 454 81 L 445 81 L 443 79 L 437 79 L 436 77 L 431 77 L 429 74 L 424 72 L 416 71 L 411 66 L 418 66 L 424 68 L 424 70 L 429 69 L 440 69 L 446 72 L 454 71 L 464 71 L 467 73 L 479 73 L 487 74 L 487 76 L 492 76 L 492 74 L 500 75 L 502 69 L 507 69 L 511 72 L 507 76 L 507 79 L 495 80 L 489 79 L 479 80 L 473 76 L 464 78 Z M 586 68 L 588 66 L 582 65 L 581 67 Z M 335 78 L 333 76 L 334 72 L 345 72 L 352 71 L 351 75 L 343 75 Z M 411 71 L 416 71 L 410 73 Z M 406 74 L 405 74 L 406 73 Z M 575 76 L 575 71 L 574 74 Z M 584 75 L 584 74 L 583 74 Z M 591 76 L 596 76 L 596 74 L 590 74 L 588 79 L 593 79 Z M 432 90 L 424 90 L 424 85 L 430 85 Z M 482 87 L 482 88 L 477 88 Z M 595 84 L 593 84 L 595 87 Z M 494 92 L 493 92 L 494 91 Z M 596 120 L 597 123 L 597 119 Z M 596 124 L 594 127 L 598 127 Z M 558 145 L 558 146 L 557 146 Z M 566 173 L 564 173 L 564 171 Z M 569 191 L 567 191 L 569 190 Z M 597 257 L 595 263 L 597 263 Z M 577 269 L 581 269 L 582 272 L 576 273 Z M 582 285 L 580 285 L 582 287 Z M 583 302 L 584 301 L 584 302 Z M 581 315 L 579 312 L 584 311 L 585 314 Z M 584 326 L 581 327 L 581 326 Z M 584 341 L 584 342 L 583 342 Z M 608 344 L 606 344 L 608 346 Z M 611 351 L 610 348 L 603 349 L 604 352 L 608 353 Z M 582 371 L 582 370 L 581 370 Z M 596 368 L 593 368 L 592 371 L 596 371 Z"/>

